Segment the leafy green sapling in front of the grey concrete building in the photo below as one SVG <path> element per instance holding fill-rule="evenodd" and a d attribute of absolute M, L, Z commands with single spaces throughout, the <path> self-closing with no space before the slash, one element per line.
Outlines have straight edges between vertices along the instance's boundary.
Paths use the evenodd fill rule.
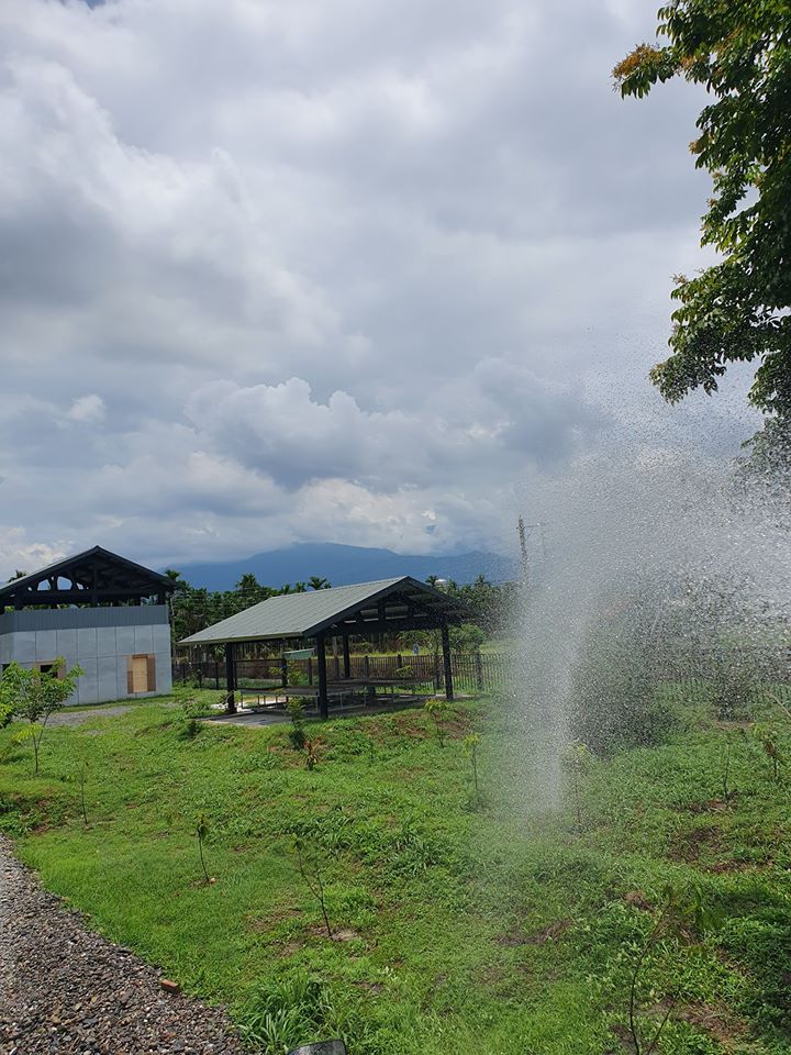
<path fill-rule="evenodd" d="M 13 737 L 13 743 L 31 741 L 35 773 L 38 773 L 38 752 L 47 722 L 74 696 L 81 674 L 77 666 L 66 670 L 66 660 L 58 657 L 48 670 L 29 670 L 16 662 L 10 663 L 0 677 L 3 710 L 10 707 L 14 718 L 29 722 Z"/>

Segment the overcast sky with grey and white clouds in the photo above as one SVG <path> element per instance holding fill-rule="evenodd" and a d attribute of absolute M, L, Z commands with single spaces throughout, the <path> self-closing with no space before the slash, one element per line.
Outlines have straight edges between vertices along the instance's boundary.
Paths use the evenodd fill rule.
<path fill-rule="evenodd" d="M 612 90 L 655 8 L 3 0 L 0 577 L 498 546 L 576 458 L 736 449 L 740 382 L 646 381 L 708 193 L 695 90 Z"/>

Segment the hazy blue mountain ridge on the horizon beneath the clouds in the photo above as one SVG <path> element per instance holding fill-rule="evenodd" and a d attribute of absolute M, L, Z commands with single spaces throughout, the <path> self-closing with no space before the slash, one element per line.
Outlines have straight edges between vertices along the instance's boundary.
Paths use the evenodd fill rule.
<path fill-rule="evenodd" d="M 286 582 L 308 581 L 312 575 L 330 579 L 333 586 L 369 582 L 411 575 L 425 579 L 436 575 L 441 579 L 471 582 L 484 575 L 492 582 L 502 582 L 516 575 L 514 560 L 495 553 L 474 549 L 458 554 L 401 554 L 391 549 L 368 549 L 338 543 L 300 543 L 269 553 L 256 553 L 237 560 L 214 560 L 180 565 L 178 570 L 194 587 L 208 590 L 231 590 L 245 573 L 252 571 L 265 586 L 280 587 Z"/>

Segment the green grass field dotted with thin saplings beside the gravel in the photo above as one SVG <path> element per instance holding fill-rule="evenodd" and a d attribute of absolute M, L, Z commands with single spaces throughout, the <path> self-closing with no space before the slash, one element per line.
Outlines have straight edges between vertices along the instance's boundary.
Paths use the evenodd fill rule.
<path fill-rule="evenodd" d="M 350 1055 L 635 1051 L 647 949 L 644 1055 L 668 1012 L 664 1055 L 790 1052 L 783 766 L 776 781 L 754 736 L 690 707 L 668 743 L 586 765 L 578 819 L 570 778 L 536 807 L 545 775 L 511 707 L 458 704 L 444 747 L 421 711 L 311 726 L 312 770 L 287 726 L 191 736 L 155 700 L 47 731 L 34 778 L 12 725 L 0 828 L 91 925 L 227 1003 L 258 1051 L 338 1034 Z M 662 915 L 668 884 L 705 920 Z"/>

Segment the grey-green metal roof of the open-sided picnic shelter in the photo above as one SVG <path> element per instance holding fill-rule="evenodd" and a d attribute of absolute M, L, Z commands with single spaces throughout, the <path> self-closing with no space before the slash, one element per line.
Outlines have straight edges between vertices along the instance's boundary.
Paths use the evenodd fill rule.
<path fill-rule="evenodd" d="M 310 637 L 344 618 L 363 612 L 366 608 L 372 606 L 376 610 L 379 601 L 383 602 L 393 595 L 399 598 L 408 595 L 422 608 L 447 619 L 448 622 L 471 618 L 467 607 L 456 598 L 404 575 L 394 579 L 379 579 L 376 582 L 358 582 L 354 586 L 336 586 L 328 590 L 270 597 L 244 612 L 230 615 L 213 626 L 207 626 L 205 630 L 185 637 L 180 644 L 218 645 L 234 641 Z M 349 626 L 348 631 L 364 633 L 365 624 Z"/>

